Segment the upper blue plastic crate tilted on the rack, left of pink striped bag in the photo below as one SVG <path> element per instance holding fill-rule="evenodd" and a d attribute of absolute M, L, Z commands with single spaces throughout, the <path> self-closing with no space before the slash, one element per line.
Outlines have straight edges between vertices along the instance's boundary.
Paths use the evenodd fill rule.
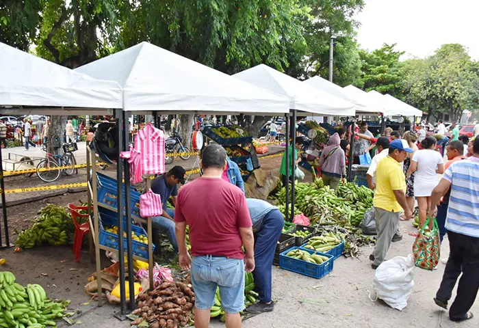
<path fill-rule="evenodd" d="M 97 200 L 101 204 L 118 208 L 118 184 L 114 184 L 114 182 L 98 176 Z M 125 187 L 123 187 L 123 202 L 125 202 Z M 130 209 L 131 215 L 140 217 L 140 193 L 135 189 L 130 189 Z M 125 207 L 123 207 L 123 210 L 125 210 Z"/>

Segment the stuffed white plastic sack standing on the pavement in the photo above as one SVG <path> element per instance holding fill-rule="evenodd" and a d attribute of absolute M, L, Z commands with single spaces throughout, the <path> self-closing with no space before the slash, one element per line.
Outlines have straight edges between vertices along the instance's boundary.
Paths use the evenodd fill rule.
<path fill-rule="evenodd" d="M 378 299 L 396 310 L 406 308 L 414 287 L 414 258 L 396 256 L 380 264 L 374 273 L 373 288 Z"/>

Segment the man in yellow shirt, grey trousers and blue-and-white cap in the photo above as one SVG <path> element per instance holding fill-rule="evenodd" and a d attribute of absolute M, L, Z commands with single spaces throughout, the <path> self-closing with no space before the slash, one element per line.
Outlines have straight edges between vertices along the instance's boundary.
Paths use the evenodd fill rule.
<path fill-rule="evenodd" d="M 398 230 L 399 217 L 404 210 L 406 219 L 413 213 L 406 202 L 406 178 L 401 163 L 407 152 L 413 152 L 406 140 L 396 139 L 389 144 L 388 156 L 376 168 L 376 193 L 373 205 L 376 210 L 376 247 L 370 255 L 372 269 L 384 262 L 391 240 Z"/>

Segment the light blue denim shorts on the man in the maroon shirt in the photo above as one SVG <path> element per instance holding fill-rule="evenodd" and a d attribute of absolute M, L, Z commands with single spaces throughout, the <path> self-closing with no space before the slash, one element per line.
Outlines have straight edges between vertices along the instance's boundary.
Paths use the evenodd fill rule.
<path fill-rule="evenodd" d="M 207 310 L 215 303 L 216 288 L 220 287 L 221 305 L 226 313 L 244 310 L 244 260 L 194 256 L 192 258 L 194 306 Z"/>

